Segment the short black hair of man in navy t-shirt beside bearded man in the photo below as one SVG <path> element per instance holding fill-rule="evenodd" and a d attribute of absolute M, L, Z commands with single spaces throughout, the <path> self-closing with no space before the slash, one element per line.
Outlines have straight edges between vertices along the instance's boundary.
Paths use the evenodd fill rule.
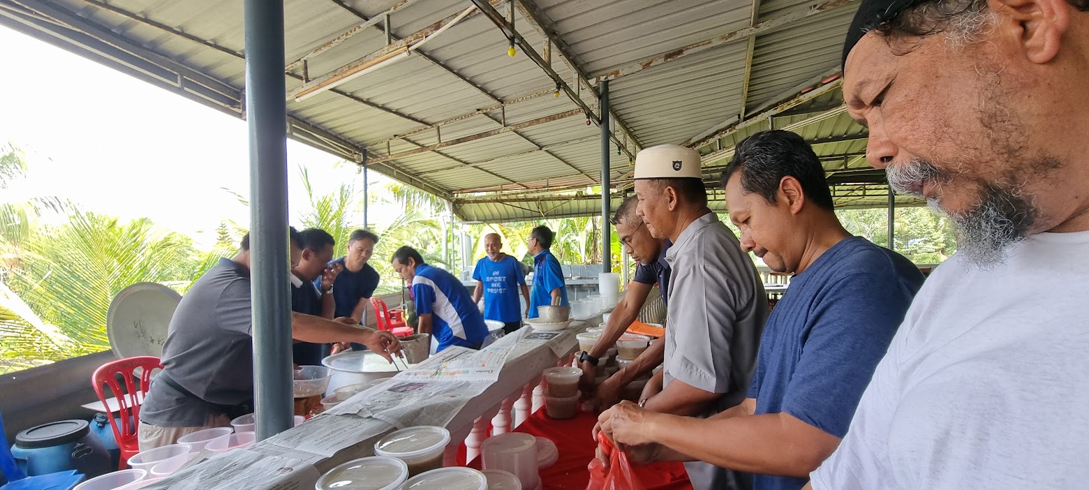
<path fill-rule="evenodd" d="M 722 186 L 741 173 L 742 188 L 759 194 L 768 204 L 775 204 L 779 184 L 784 176 L 797 179 L 806 199 L 820 208 L 833 210 L 832 192 L 824 179 L 824 168 L 812 147 L 796 133 L 783 130 L 762 131 L 742 140 L 734 149 Z"/>

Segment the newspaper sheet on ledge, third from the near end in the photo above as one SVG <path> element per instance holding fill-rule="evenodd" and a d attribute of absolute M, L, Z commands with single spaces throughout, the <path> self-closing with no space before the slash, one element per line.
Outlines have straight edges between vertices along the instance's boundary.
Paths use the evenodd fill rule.
<path fill-rule="evenodd" d="M 371 417 L 399 429 L 414 426 L 445 427 L 492 381 L 413 381 L 391 379 L 356 393 L 326 414 Z M 381 395 L 378 393 L 381 392 Z"/>

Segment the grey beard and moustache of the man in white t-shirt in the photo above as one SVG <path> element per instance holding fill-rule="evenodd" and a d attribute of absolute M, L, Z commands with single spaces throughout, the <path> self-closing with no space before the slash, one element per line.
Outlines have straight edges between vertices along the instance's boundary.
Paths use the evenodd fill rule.
<path fill-rule="evenodd" d="M 1028 237 L 1039 211 L 1028 199 L 1011 189 L 987 185 L 983 200 L 965 213 L 945 212 L 938 199 L 928 199 L 930 209 L 945 215 L 953 224 L 957 253 L 980 269 L 1005 262 L 1010 247 Z"/>

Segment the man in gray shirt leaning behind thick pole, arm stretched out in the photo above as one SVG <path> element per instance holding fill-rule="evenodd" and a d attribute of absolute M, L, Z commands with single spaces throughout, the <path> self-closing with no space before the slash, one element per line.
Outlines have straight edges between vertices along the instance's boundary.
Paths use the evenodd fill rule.
<path fill-rule="evenodd" d="M 302 255 L 291 230 L 292 265 Z M 290 305 L 284 305 L 289 308 Z M 249 294 L 249 235 L 242 252 L 198 279 L 178 305 L 162 346 L 163 370 L 140 407 L 139 449 L 173 444 L 178 438 L 253 412 L 254 347 Z M 314 343 L 359 342 L 387 359 L 401 350 L 389 332 L 351 327 L 292 313 L 292 336 Z M 284 359 L 287 362 L 287 359 Z"/>

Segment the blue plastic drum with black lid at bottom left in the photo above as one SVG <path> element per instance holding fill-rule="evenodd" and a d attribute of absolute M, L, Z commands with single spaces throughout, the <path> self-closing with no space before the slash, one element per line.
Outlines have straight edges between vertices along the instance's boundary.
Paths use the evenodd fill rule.
<path fill-rule="evenodd" d="M 15 436 L 11 454 L 27 476 L 76 469 L 90 479 L 111 469 L 110 454 L 90 433 L 87 420 L 60 420 L 26 429 Z"/>

